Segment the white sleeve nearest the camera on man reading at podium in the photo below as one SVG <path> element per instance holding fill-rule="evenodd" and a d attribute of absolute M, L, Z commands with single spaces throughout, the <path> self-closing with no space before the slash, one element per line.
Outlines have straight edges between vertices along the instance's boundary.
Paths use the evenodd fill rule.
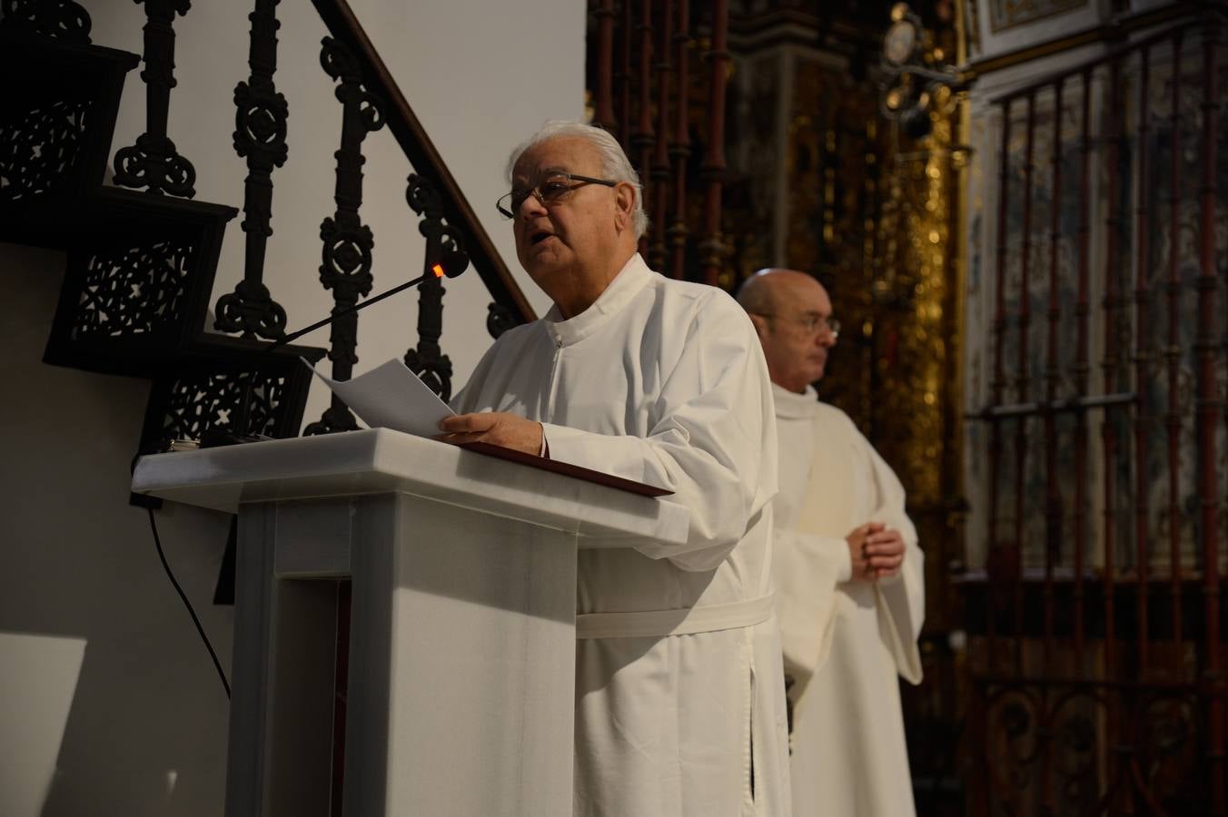
<path fill-rule="evenodd" d="M 674 492 L 690 508 L 685 545 L 636 550 L 684 570 L 710 570 L 742 540 L 776 493 L 776 421 L 759 339 L 732 298 L 699 299 L 683 352 L 651 410 L 646 438 L 543 423 L 550 458 Z"/>

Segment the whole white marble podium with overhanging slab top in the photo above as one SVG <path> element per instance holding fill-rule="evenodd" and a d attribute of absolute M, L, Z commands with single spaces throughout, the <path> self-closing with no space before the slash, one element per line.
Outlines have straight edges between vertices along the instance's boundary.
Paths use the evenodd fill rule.
<path fill-rule="evenodd" d="M 133 491 L 239 514 L 227 817 L 327 817 L 334 751 L 346 817 L 571 815 L 576 550 L 689 515 L 387 429 L 146 456 Z"/>

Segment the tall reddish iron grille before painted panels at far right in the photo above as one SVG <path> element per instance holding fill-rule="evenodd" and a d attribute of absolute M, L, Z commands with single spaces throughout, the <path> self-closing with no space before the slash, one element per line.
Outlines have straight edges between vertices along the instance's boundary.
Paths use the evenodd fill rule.
<path fill-rule="evenodd" d="M 1228 808 L 1223 22 L 992 103 L 976 815 Z"/>

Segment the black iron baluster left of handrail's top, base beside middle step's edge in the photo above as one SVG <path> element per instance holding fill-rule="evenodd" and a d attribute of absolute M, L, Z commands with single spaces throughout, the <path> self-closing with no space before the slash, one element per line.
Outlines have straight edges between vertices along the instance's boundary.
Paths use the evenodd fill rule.
<path fill-rule="evenodd" d="M 286 332 L 286 310 L 264 286 L 264 250 L 273 234 L 273 168 L 286 162 L 286 97 L 278 92 L 273 74 L 278 70 L 278 2 L 255 0 L 251 15 L 252 34 L 248 65 L 252 75 L 235 87 L 235 152 L 247 158 L 243 183 L 243 233 L 247 247 L 243 280 L 235 292 L 217 299 L 214 328 L 243 332 L 243 337 L 281 337 Z"/>

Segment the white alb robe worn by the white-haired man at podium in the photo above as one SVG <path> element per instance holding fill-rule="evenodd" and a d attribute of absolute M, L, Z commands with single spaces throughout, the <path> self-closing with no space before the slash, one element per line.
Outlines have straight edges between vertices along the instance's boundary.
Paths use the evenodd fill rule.
<path fill-rule="evenodd" d="M 582 314 L 553 309 L 507 331 L 453 401 L 540 421 L 551 459 L 672 489 L 690 508 L 683 546 L 581 551 L 578 615 L 761 611 L 750 626 L 578 639 L 576 815 L 790 813 L 770 390 L 737 303 L 635 255 Z"/>

